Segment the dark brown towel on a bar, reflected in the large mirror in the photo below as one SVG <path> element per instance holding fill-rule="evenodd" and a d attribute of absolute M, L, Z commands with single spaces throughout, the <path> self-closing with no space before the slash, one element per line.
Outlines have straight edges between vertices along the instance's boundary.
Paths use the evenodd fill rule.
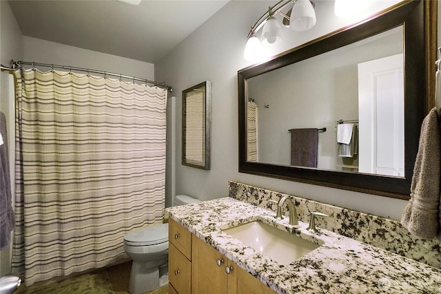
<path fill-rule="evenodd" d="M 317 167 L 318 129 L 291 129 L 291 165 Z"/>

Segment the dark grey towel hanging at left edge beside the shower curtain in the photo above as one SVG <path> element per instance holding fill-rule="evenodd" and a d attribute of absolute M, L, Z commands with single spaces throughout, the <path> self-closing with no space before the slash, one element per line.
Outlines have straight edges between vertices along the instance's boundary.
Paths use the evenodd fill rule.
<path fill-rule="evenodd" d="M 0 134 L 3 145 L 0 145 L 0 250 L 9 246 L 11 231 L 14 229 L 14 211 L 11 203 L 11 182 L 9 174 L 8 137 L 6 117 L 0 112 Z"/>

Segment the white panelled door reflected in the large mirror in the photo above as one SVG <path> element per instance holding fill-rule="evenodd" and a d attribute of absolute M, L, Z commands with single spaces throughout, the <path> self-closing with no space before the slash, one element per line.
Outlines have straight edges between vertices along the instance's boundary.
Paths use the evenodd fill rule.
<path fill-rule="evenodd" d="M 359 168 L 404 176 L 403 54 L 358 64 Z"/>

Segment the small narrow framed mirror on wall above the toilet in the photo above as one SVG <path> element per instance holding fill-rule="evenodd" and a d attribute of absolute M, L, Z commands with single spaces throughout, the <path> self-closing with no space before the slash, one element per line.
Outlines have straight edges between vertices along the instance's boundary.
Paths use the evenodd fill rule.
<path fill-rule="evenodd" d="M 205 81 L 182 92 L 182 164 L 210 169 L 212 84 Z"/>

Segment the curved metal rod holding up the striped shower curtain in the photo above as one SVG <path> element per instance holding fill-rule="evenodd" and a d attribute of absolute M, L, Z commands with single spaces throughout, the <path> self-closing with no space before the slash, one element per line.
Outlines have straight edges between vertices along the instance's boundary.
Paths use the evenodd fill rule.
<path fill-rule="evenodd" d="M 61 68 L 63 70 L 77 70 L 80 72 L 87 72 L 89 73 L 93 73 L 93 74 L 103 74 L 104 76 L 119 76 L 119 78 L 128 78 L 130 80 L 133 81 L 141 81 L 143 83 L 149 83 L 149 84 L 153 84 L 157 87 L 161 87 L 161 88 L 165 88 L 170 92 L 173 92 L 173 88 L 169 85 L 166 85 L 165 83 L 158 83 L 156 81 L 149 81 L 145 78 L 136 78 L 136 76 L 126 76 L 124 74 L 115 74 L 113 72 L 104 72 L 102 70 L 91 70 L 89 68 L 83 68 L 83 67 L 74 67 L 74 66 L 68 66 L 68 65 L 56 65 L 56 64 L 49 64 L 49 63 L 37 63 L 37 62 L 29 62 L 29 61 L 11 61 L 11 67 L 12 69 L 10 70 L 17 70 L 17 67 L 23 67 L 23 65 L 32 65 L 32 67 L 36 67 L 36 66 L 44 66 L 44 67 L 50 67 L 52 68 L 52 70 L 54 68 Z M 6 68 L 5 68 L 6 69 Z"/>

